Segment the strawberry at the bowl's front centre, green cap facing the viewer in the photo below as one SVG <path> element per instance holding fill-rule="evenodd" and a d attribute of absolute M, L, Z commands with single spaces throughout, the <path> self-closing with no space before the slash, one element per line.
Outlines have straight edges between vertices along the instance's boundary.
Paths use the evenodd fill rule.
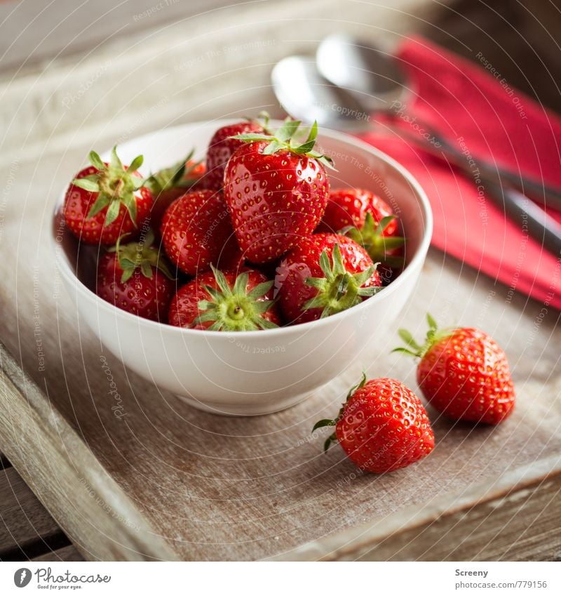
<path fill-rule="evenodd" d="M 202 273 L 175 294 L 169 322 L 177 327 L 210 331 L 257 331 L 280 325 L 273 304 L 273 282 L 250 269 Z"/>

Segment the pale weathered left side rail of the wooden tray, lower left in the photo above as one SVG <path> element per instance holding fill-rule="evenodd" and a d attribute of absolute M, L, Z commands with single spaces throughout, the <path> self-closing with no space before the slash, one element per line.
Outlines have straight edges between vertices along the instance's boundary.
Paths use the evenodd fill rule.
<path fill-rule="evenodd" d="M 0 410 L 0 436 L 8 439 L 7 455 L 39 500 L 48 501 L 56 522 L 84 556 L 126 560 L 175 558 L 1 345 L 0 389 L 4 406 Z M 16 443 L 18 450 L 13 449 Z M 29 451 L 22 453 L 23 449 Z M 68 449 L 73 450 L 72 461 Z M 97 538 L 103 536 L 104 540 L 88 541 L 93 530 Z"/>

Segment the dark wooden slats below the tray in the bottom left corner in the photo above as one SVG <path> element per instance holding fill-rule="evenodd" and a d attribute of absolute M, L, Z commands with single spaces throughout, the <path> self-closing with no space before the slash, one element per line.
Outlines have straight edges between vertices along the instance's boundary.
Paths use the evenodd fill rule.
<path fill-rule="evenodd" d="M 22 559 L 65 541 L 58 524 L 29 490 L 22 477 L 0 470 L 0 559 Z"/>

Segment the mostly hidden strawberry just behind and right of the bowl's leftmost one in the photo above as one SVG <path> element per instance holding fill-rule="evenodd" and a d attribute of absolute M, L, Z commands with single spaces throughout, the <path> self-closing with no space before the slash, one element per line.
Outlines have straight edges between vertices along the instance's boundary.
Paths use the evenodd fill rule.
<path fill-rule="evenodd" d="M 158 234 L 163 214 L 168 207 L 189 190 L 201 190 L 206 168 L 192 159 L 194 151 L 170 168 L 163 168 L 147 178 L 147 186 L 154 197 L 147 224 Z"/>

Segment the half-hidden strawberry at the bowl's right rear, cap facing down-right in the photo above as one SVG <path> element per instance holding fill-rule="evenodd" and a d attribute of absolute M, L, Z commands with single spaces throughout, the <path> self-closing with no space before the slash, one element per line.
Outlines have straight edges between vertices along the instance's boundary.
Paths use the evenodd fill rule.
<path fill-rule="evenodd" d="M 370 190 L 332 190 L 317 231 L 349 236 L 366 249 L 374 263 L 403 266 L 398 254 L 405 239 L 398 235 L 398 220 L 386 201 Z"/>

